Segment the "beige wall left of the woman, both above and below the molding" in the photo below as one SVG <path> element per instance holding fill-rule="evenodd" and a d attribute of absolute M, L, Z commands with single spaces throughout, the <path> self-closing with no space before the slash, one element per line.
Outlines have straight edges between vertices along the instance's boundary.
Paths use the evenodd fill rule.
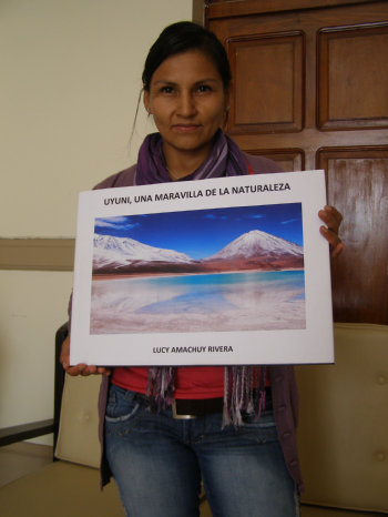
<path fill-rule="evenodd" d="M 73 237 L 78 192 L 135 161 L 146 51 L 192 0 L 0 2 L 0 237 Z M 0 271 L 0 427 L 50 418 L 71 272 Z"/>

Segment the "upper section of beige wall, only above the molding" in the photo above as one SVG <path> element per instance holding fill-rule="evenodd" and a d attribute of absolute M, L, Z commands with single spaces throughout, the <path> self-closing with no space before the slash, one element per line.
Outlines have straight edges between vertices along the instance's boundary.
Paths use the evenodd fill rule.
<path fill-rule="evenodd" d="M 150 44 L 191 10 L 191 0 L 0 2 L 1 236 L 73 236 L 76 192 L 135 160 Z"/>

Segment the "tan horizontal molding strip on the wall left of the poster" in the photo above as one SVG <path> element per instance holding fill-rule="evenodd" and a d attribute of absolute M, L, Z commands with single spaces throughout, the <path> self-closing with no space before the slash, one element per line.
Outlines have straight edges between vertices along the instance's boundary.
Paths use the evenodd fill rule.
<path fill-rule="evenodd" d="M 0 239 L 0 270 L 73 271 L 74 239 Z"/>

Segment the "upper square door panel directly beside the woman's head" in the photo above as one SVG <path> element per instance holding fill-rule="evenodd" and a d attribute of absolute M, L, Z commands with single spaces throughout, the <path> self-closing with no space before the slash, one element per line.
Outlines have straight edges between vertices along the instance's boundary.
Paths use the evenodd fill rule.
<path fill-rule="evenodd" d="M 304 47 L 300 31 L 227 39 L 235 78 L 227 126 L 231 134 L 302 131 Z"/>

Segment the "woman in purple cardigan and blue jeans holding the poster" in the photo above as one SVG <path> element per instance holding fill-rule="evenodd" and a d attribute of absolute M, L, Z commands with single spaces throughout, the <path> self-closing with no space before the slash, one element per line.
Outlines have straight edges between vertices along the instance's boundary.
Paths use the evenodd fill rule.
<path fill-rule="evenodd" d="M 229 82 L 226 53 L 213 33 L 190 22 L 167 27 L 143 72 L 144 105 L 159 133 L 145 139 L 136 165 L 96 187 L 279 172 L 222 132 Z M 336 256 L 341 216 L 328 206 L 319 216 Z M 197 516 L 201 479 L 214 516 L 298 515 L 292 366 L 111 371 L 69 366 L 69 346 L 68 339 L 61 355 L 69 374 L 103 374 L 103 483 L 113 474 L 127 515 Z"/>

